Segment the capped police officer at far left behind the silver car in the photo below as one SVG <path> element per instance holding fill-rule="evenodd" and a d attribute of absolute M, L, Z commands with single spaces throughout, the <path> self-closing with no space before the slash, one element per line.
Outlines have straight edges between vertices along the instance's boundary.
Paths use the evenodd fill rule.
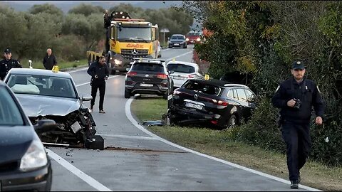
<path fill-rule="evenodd" d="M 6 74 L 9 72 L 11 68 L 23 68 L 19 60 L 12 59 L 12 53 L 9 48 L 4 50 L 4 60 L 0 61 L 0 78 L 4 80 Z"/>

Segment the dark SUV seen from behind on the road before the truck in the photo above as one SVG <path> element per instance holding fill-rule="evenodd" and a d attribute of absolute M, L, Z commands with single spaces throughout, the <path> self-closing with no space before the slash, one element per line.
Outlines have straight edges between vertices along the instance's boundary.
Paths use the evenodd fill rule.
<path fill-rule="evenodd" d="M 173 81 L 165 60 L 135 59 L 125 77 L 125 98 L 140 93 L 162 95 L 166 100 L 172 90 Z"/>

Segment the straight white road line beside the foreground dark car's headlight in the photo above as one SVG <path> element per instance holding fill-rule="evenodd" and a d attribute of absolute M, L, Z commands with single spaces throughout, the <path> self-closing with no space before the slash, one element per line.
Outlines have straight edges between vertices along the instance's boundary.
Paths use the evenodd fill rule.
<path fill-rule="evenodd" d="M 57 161 L 58 164 L 61 164 L 61 166 L 63 166 L 66 169 L 68 169 L 68 171 L 71 171 L 71 173 L 75 174 L 76 176 L 81 178 L 83 181 L 86 181 L 86 183 L 88 183 L 93 188 L 97 189 L 98 191 L 112 191 L 109 188 L 107 188 L 106 186 L 103 186 L 103 184 L 101 184 L 100 182 L 96 181 L 92 177 L 90 177 L 87 174 L 85 174 L 80 169 L 77 169 L 75 166 L 70 164 L 68 161 L 63 159 L 61 156 L 58 156 L 58 154 L 55 154 L 50 149 L 46 149 L 46 151 L 48 152 L 48 156 L 50 156 L 52 159 Z"/>

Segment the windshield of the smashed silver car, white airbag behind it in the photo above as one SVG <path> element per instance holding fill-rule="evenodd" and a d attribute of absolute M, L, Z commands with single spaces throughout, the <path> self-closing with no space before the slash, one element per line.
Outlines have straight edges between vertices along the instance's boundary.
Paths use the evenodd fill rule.
<path fill-rule="evenodd" d="M 16 94 L 76 98 L 76 90 L 69 78 L 43 75 L 11 75 L 7 85 Z"/>

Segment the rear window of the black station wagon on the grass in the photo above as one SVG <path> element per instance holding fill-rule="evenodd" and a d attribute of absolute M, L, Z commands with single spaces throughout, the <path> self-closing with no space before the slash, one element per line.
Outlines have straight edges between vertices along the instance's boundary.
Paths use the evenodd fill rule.
<path fill-rule="evenodd" d="M 200 83 L 200 82 L 194 82 L 192 80 L 188 80 L 187 82 L 185 82 L 185 84 L 182 87 L 187 90 L 192 90 L 195 92 L 202 92 L 207 95 L 219 96 L 221 92 L 220 87 L 216 87 L 214 85 L 207 85 L 207 84 Z"/>

